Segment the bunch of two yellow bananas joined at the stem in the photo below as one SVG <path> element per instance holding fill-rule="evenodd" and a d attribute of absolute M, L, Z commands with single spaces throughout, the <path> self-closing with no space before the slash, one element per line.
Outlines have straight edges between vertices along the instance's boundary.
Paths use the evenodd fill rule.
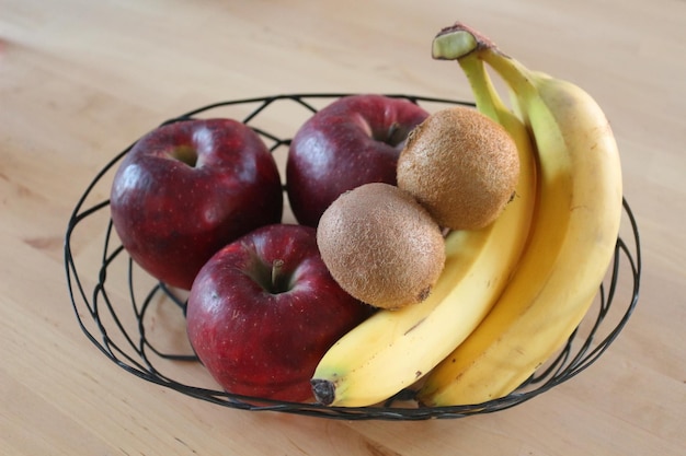
<path fill-rule="evenodd" d="M 515 140 L 516 196 L 490 226 L 447 236 L 445 269 L 426 301 L 377 312 L 325 353 L 311 381 L 321 404 L 369 406 L 412 385 L 432 407 L 505 396 L 569 338 L 611 260 L 621 169 L 595 101 L 460 23 L 433 45 L 434 58 L 459 62 L 477 108 Z M 510 87 L 514 113 L 484 63 Z"/>

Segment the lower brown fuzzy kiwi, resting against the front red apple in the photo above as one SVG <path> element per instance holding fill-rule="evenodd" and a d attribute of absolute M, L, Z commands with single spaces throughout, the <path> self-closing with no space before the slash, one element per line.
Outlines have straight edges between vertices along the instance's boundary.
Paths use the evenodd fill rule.
<path fill-rule="evenodd" d="M 380 308 L 426 299 L 445 265 L 439 226 L 409 194 L 381 183 L 341 195 L 322 214 L 317 243 L 331 276 Z"/>

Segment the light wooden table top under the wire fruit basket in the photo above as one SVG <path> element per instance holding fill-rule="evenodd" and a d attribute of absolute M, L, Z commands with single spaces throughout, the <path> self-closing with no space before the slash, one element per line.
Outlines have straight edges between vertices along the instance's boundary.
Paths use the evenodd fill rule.
<path fill-rule="evenodd" d="M 0 453 L 684 454 L 686 3 L 342 4 L 0 1 Z M 115 153 L 162 120 L 220 100 L 298 92 L 472 100 L 458 67 L 430 56 L 435 33 L 456 20 L 528 66 L 576 82 L 611 119 L 643 273 L 632 318 L 595 364 L 493 414 L 353 422 L 190 398 L 126 373 L 88 341 L 67 294 L 62 242 L 78 198 Z M 87 253 L 100 234 L 78 242 L 90 281 L 98 262 Z"/>

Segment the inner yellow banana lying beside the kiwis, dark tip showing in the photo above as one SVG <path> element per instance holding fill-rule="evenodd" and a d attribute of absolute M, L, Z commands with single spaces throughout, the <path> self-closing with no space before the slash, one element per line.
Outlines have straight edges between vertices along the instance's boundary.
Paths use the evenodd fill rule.
<path fill-rule="evenodd" d="M 517 144 L 519 180 L 513 200 L 485 229 L 448 234 L 444 270 L 425 301 L 377 312 L 324 354 L 311 381 L 319 402 L 369 406 L 413 385 L 477 327 L 516 268 L 535 208 L 533 144 L 492 85 L 482 85 L 478 109 L 501 122 Z"/>

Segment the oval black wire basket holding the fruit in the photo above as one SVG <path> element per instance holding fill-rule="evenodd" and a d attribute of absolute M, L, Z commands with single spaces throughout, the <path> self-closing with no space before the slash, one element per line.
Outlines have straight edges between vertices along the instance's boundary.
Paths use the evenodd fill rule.
<path fill-rule="evenodd" d="M 290 138 L 319 107 L 348 94 L 296 94 L 215 103 L 163 124 L 203 117 L 242 119 L 272 153 L 287 153 Z M 432 112 L 472 103 L 414 95 L 405 98 Z M 287 121 L 284 121 L 284 120 Z M 140 269 L 122 247 L 112 225 L 108 195 L 116 165 L 133 147 L 101 169 L 79 199 L 66 232 L 67 285 L 88 339 L 116 365 L 145 381 L 187 396 L 251 411 L 277 411 L 343 420 L 455 419 L 504 410 L 569 381 L 593 364 L 617 338 L 638 303 L 641 277 L 639 231 L 626 200 L 613 262 L 596 302 L 567 344 L 514 393 L 471 406 L 421 407 L 414 390 L 400 391 L 374 407 L 328 407 L 247 397 L 219 389 L 187 342 L 185 295 Z M 625 237 L 627 242 L 625 242 Z M 80 266 L 90 265 L 88 269 Z M 100 265 L 98 270 L 92 265 Z"/>

